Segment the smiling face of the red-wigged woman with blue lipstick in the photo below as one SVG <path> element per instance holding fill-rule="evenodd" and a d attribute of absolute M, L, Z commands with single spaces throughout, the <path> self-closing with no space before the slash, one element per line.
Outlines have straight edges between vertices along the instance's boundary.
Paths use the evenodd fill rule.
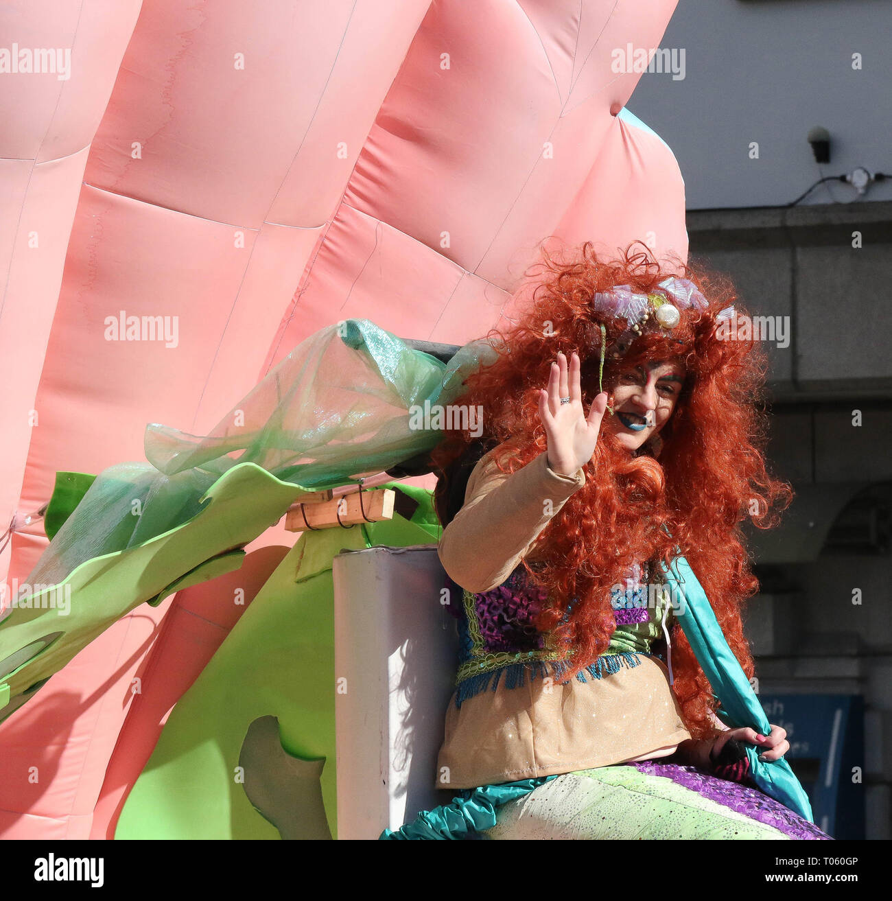
<path fill-rule="evenodd" d="M 678 360 L 623 369 L 614 389 L 614 415 L 605 426 L 628 451 L 637 451 L 660 432 L 678 403 L 685 368 Z"/>

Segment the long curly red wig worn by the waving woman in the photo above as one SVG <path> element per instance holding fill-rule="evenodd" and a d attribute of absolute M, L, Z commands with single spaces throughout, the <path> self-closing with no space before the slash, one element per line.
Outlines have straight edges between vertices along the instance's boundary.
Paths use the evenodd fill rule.
<path fill-rule="evenodd" d="M 514 472 L 547 449 L 538 392 L 548 384 L 559 350 L 568 358 L 578 351 L 586 409 L 599 390 L 601 323 L 607 335 L 608 392 L 627 369 L 680 360 L 687 375 L 660 432 L 659 461 L 647 452 L 623 449 L 602 423 L 595 453 L 584 467 L 585 486 L 551 519 L 523 561 L 531 578 L 549 593 L 537 626 L 551 633 L 559 647 L 575 649 L 572 677 L 604 653 L 614 632 L 611 587 L 623 584 L 633 561 L 668 562 L 678 545 L 751 678 L 741 606 L 758 581 L 742 543 L 741 523 L 751 520 L 769 528 L 792 499 L 790 487 L 766 469 L 767 422 L 757 405 L 765 358 L 752 340 L 716 336 L 716 313 L 732 304 L 738 315 L 743 312 L 730 283 L 680 261 L 669 271 L 648 250 L 634 247 L 613 260 L 599 258 L 591 242 L 560 260 L 543 248 L 542 261 L 526 273 L 532 277 L 527 286 L 535 286 L 531 303 L 512 326 L 488 333 L 497 357 L 466 380 L 468 390 L 457 403 L 482 408 L 484 438 L 499 445 L 496 463 Z M 671 332 L 645 331 L 621 359 L 612 359 L 610 351 L 626 323 L 596 313 L 592 296 L 619 285 L 646 294 L 670 275 L 693 281 L 708 299 L 708 310 L 680 311 L 681 321 Z M 468 431 L 449 430 L 433 452 L 441 475 L 438 497 L 447 488 L 450 464 L 473 440 Z M 535 560 L 533 567 L 530 560 Z M 687 728 L 695 737 L 715 733 L 709 714 L 715 701 L 703 670 L 678 625 L 671 639 L 673 690 Z"/>

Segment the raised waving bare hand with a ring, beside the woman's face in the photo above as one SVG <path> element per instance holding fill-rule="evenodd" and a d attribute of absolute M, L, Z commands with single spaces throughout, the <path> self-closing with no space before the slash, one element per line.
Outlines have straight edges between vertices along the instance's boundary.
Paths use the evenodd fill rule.
<path fill-rule="evenodd" d="M 566 356 L 559 353 L 558 361 L 551 364 L 548 387 L 539 391 L 539 418 L 548 440 L 548 465 L 562 476 L 572 475 L 591 460 L 607 407 L 607 394 L 602 391 L 586 415 L 579 369 L 579 355 L 575 350 L 569 370 Z M 569 401 L 561 403 L 562 397 L 569 397 Z"/>

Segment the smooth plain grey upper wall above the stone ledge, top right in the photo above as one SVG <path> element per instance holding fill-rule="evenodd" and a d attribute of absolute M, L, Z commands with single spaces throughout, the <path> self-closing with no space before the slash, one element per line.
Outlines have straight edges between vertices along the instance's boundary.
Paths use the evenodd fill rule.
<path fill-rule="evenodd" d="M 675 152 L 688 209 L 787 204 L 822 176 L 892 173 L 890 36 L 888 0 L 679 0 L 660 47 L 685 50 L 685 77 L 644 73 L 628 107 Z M 814 125 L 833 138 L 821 167 Z M 831 183 L 804 203 L 892 200 L 892 180 L 856 197 Z"/>

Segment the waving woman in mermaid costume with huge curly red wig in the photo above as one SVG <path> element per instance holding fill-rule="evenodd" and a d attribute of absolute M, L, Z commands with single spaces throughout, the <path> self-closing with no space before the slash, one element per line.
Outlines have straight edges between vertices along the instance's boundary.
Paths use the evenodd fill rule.
<path fill-rule="evenodd" d="M 752 677 L 741 523 L 769 527 L 791 496 L 761 451 L 760 354 L 724 340 L 732 289 L 647 253 L 543 259 L 466 380 L 483 436 L 433 454 L 460 632 L 437 787 L 456 797 L 382 838 L 827 838 L 807 801 L 756 787 L 772 761 L 795 783 L 785 732 L 728 728 L 704 651 L 730 647 Z M 705 643 L 679 629 L 679 551 L 715 613 Z"/>

